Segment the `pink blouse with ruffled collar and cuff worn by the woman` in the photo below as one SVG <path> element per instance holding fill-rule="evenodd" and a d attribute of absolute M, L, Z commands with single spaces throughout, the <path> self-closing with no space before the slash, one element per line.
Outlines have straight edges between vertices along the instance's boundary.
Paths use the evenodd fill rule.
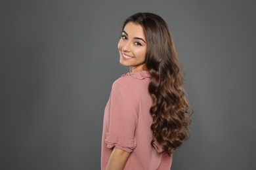
<path fill-rule="evenodd" d="M 148 71 L 122 75 L 112 85 L 104 110 L 101 169 L 106 169 L 114 146 L 131 152 L 124 169 L 166 170 L 171 168 L 172 156 L 157 154 L 150 144 L 152 97 L 148 92 Z M 160 144 L 155 142 L 158 148 Z"/>

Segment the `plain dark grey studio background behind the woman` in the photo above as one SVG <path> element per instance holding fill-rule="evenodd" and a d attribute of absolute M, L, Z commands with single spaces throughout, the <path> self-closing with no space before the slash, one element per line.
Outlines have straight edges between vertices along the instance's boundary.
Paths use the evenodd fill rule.
<path fill-rule="evenodd" d="M 172 169 L 256 169 L 255 1 L 1 1 L 0 169 L 100 169 L 121 24 L 162 16 L 194 109 Z"/>

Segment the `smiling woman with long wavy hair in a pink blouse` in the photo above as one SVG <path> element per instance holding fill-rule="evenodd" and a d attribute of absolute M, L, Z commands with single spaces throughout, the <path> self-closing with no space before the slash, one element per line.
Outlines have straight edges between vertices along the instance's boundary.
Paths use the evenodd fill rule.
<path fill-rule="evenodd" d="M 170 169 L 188 137 L 188 101 L 165 21 L 137 13 L 123 24 L 119 60 L 130 73 L 112 85 L 104 112 L 102 169 Z"/>

